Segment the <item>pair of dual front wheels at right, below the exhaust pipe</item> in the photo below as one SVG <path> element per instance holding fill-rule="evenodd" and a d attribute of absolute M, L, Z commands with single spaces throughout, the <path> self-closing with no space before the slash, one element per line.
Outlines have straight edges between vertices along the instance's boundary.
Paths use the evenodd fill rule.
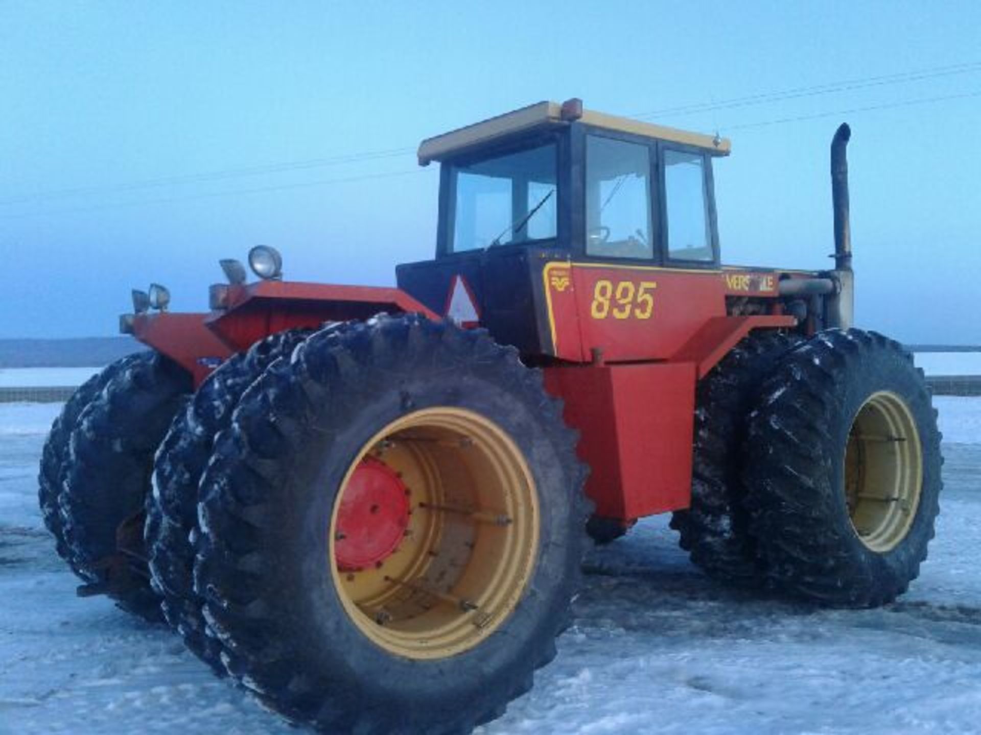
<path fill-rule="evenodd" d="M 922 371 L 859 329 L 750 337 L 699 386 L 692 507 L 672 526 L 710 576 L 837 607 L 896 599 L 942 488 Z"/>

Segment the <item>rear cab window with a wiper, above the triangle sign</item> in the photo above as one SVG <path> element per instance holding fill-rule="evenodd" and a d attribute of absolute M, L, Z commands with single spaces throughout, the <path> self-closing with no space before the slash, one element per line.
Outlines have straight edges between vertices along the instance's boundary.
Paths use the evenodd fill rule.
<path fill-rule="evenodd" d="M 450 250 L 555 237 L 555 144 L 452 169 Z"/>

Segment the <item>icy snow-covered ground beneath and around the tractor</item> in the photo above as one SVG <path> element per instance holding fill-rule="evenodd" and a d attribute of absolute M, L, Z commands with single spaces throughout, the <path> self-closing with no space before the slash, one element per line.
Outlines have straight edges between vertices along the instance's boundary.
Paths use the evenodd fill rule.
<path fill-rule="evenodd" d="M 666 519 L 594 551 L 575 624 L 504 733 L 963 733 L 981 722 L 981 398 L 940 398 L 946 488 L 920 578 L 882 610 L 718 587 Z M 166 629 L 75 596 L 36 510 L 57 405 L 0 406 L 0 733 L 295 732 Z"/>

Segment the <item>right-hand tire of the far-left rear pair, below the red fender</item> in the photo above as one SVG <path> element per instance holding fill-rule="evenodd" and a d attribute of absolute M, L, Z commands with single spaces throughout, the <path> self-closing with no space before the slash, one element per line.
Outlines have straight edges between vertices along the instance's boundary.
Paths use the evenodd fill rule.
<path fill-rule="evenodd" d="M 58 498 L 70 562 L 130 613 L 159 620 L 142 543 L 153 455 L 191 389 L 190 374 L 155 352 L 133 356 L 81 412 Z"/>

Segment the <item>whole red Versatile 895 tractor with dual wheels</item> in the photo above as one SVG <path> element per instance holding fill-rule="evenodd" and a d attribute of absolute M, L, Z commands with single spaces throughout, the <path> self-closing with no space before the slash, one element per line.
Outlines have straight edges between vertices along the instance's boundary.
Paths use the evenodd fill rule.
<path fill-rule="evenodd" d="M 40 503 L 85 584 L 323 731 L 469 732 L 527 692 L 588 535 L 673 513 L 720 580 L 839 607 L 906 589 L 940 434 L 833 270 L 722 267 L 729 141 L 542 102 L 431 138 L 436 258 L 397 288 L 223 261 L 154 285 L 52 427 Z"/>

